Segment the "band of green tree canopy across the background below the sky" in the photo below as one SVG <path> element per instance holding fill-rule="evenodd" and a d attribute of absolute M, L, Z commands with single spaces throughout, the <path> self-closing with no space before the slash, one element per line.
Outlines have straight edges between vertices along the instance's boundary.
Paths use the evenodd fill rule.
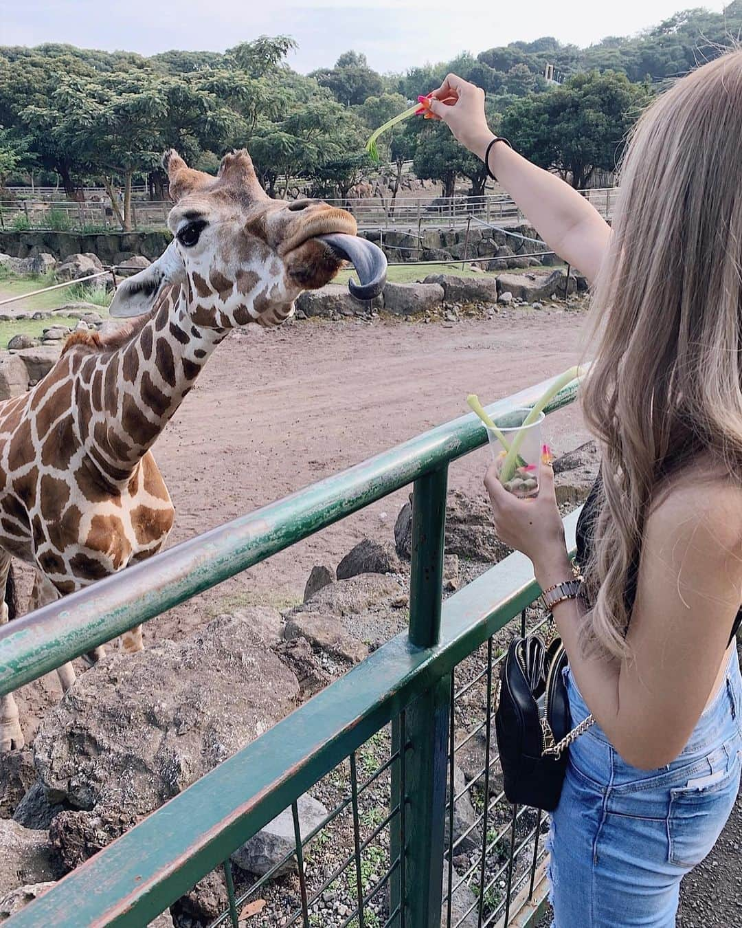
<path fill-rule="evenodd" d="M 114 208 L 126 226 L 134 181 L 146 178 L 163 195 L 164 148 L 213 171 L 225 151 L 247 146 L 272 193 L 285 194 L 301 176 L 326 196 L 345 197 L 374 170 L 364 154 L 370 132 L 449 71 L 484 88 L 495 131 L 582 186 L 595 170 L 615 167 L 651 93 L 721 54 L 740 31 L 742 0 L 733 0 L 722 13 L 687 9 L 588 48 L 544 36 L 397 74 L 377 73 L 350 49 L 332 68 L 302 75 L 288 67 L 296 47 L 288 35 L 224 53 L 173 49 L 149 58 L 58 43 L 0 46 L 0 186 L 33 171 L 45 183 L 58 177 L 70 198 L 85 183 L 109 188 L 112 200 L 122 189 Z M 547 65 L 557 83 L 544 78 Z M 486 180 L 479 162 L 430 122 L 401 124 L 379 150 L 392 200 L 409 161 L 447 192 L 465 178 L 479 193 Z"/>

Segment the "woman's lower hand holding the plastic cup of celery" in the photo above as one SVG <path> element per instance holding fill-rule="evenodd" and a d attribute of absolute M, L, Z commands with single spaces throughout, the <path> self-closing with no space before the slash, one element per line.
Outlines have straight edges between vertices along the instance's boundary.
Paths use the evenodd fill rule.
<path fill-rule="evenodd" d="M 552 574 L 557 575 L 554 583 L 568 580 L 569 558 L 564 526 L 557 509 L 552 466 L 542 464 L 539 495 L 531 499 L 518 499 L 508 493 L 497 478 L 494 464 L 487 469 L 484 485 L 493 504 L 498 538 L 531 558 L 536 579 L 542 586 L 543 581 L 552 579 Z"/>

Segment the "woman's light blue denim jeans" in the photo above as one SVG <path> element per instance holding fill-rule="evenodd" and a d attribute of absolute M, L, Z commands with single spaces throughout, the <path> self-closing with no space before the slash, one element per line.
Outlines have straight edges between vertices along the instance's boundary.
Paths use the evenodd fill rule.
<path fill-rule="evenodd" d="M 589 710 L 565 671 L 572 725 Z M 726 680 L 667 767 L 621 760 L 597 725 L 569 748 L 549 835 L 554 928 L 672 928 L 680 881 L 735 804 L 742 758 L 736 648 Z"/>

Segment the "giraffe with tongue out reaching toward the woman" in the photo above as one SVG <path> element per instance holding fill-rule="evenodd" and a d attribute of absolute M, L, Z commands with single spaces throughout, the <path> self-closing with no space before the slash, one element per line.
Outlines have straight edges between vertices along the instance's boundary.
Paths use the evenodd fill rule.
<path fill-rule="evenodd" d="M 110 315 L 129 320 L 107 335 L 73 333 L 43 380 L 0 405 L 0 594 L 19 558 L 37 572 L 32 608 L 162 548 L 174 509 L 150 449 L 232 329 L 279 325 L 346 258 L 361 277 L 352 290 L 371 298 L 383 286 L 386 261 L 355 238 L 349 213 L 272 200 L 247 151 L 226 155 L 216 177 L 173 150 L 163 164 L 173 241 L 116 291 Z M 0 626 L 10 618 L 2 602 Z M 122 636 L 125 651 L 142 647 L 141 626 Z M 71 664 L 58 673 L 68 689 Z M 0 752 L 23 744 L 9 694 Z"/>

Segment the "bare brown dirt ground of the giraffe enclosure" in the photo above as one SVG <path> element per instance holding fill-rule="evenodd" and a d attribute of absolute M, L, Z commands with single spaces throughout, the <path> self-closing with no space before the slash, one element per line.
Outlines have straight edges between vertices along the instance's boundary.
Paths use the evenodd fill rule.
<path fill-rule="evenodd" d="M 583 357 L 582 313 L 508 310 L 493 319 L 405 323 L 308 320 L 236 332 L 220 347 L 155 455 L 177 510 L 171 545 L 350 467 L 482 402 L 560 373 Z M 588 435 L 577 406 L 547 419 L 557 454 Z M 481 490 L 486 449 L 456 462 L 451 488 Z M 313 564 L 336 566 L 366 535 L 393 538 L 401 491 L 192 599 L 145 627 L 145 643 L 178 638 L 251 603 L 301 600 Z M 19 692 L 27 737 L 59 697 L 54 677 Z M 737 901 L 742 811 L 684 886 L 679 924 L 742 925 Z M 548 923 L 548 922 L 545 922 Z"/>

